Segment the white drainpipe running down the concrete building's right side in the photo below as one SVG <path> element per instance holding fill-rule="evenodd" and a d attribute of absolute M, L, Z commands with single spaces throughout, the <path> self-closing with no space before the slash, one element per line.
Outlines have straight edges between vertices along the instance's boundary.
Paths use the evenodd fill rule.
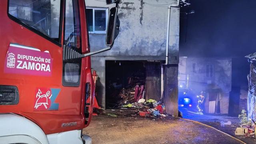
<path fill-rule="evenodd" d="M 164 93 L 164 65 L 168 64 L 168 50 L 169 50 L 169 35 L 170 35 L 170 15 L 171 7 L 179 6 L 180 0 L 177 0 L 177 4 L 171 4 L 168 6 L 168 18 L 167 18 L 167 31 L 166 31 L 166 54 L 165 54 L 165 63 L 161 64 L 161 99 Z"/>

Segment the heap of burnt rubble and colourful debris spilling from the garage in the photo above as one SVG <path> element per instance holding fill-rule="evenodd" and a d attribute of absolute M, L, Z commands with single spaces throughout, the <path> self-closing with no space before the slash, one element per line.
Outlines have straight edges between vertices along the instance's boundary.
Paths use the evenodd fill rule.
<path fill-rule="evenodd" d="M 148 118 L 166 118 L 165 106 L 161 101 L 146 100 L 146 78 L 143 72 L 131 74 L 126 85 L 120 80 L 108 82 L 108 107 L 115 109 L 118 116 L 141 116 Z M 124 110 L 119 112 L 118 109 Z"/>

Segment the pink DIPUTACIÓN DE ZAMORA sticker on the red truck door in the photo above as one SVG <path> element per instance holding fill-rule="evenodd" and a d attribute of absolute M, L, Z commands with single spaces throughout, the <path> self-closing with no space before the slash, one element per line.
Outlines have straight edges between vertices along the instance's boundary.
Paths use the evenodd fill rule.
<path fill-rule="evenodd" d="M 6 54 L 4 72 L 12 74 L 28 74 L 51 76 L 52 61 L 50 53 L 41 52 L 37 48 L 10 44 Z"/>

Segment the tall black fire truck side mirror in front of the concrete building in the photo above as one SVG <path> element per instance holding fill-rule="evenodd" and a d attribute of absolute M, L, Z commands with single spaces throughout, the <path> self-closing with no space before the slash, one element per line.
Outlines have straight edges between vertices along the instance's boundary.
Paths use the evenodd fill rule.
<path fill-rule="evenodd" d="M 120 20 L 117 16 L 117 7 L 111 8 L 108 16 L 108 27 L 106 32 L 106 45 L 112 47 L 114 40 L 119 34 Z"/>

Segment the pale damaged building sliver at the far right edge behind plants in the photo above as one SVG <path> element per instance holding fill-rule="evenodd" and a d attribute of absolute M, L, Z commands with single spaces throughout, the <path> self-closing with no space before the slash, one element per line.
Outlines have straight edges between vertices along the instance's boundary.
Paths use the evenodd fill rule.
<path fill-rule="evenodd" d="M 245 56 L 250 62 L 250 74 L 248 74 L 248 118 L 256 118 L 256 53 Z"/>

